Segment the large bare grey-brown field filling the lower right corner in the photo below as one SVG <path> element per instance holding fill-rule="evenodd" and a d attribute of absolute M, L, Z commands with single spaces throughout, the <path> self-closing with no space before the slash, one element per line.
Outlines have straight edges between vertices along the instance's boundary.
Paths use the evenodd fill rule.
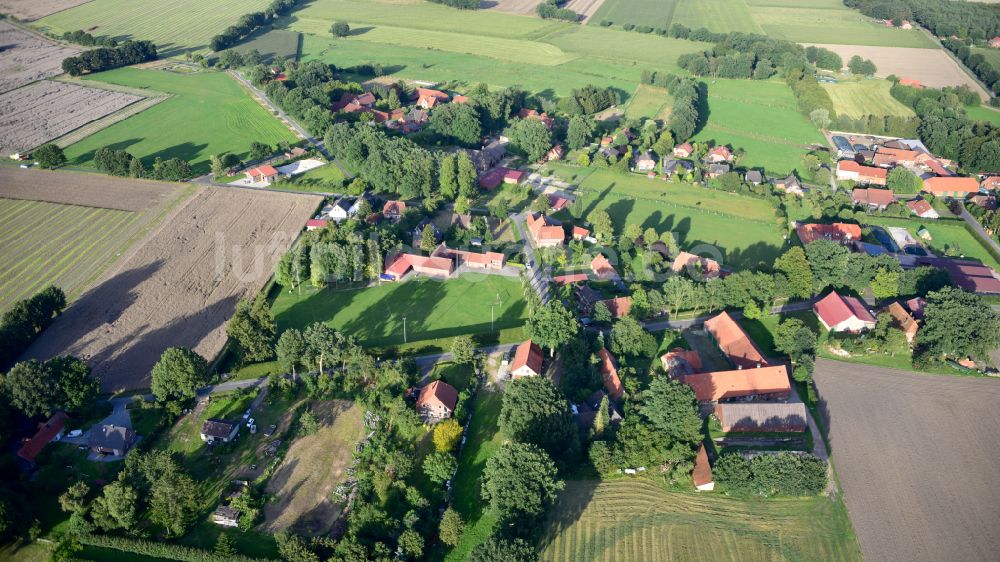
<path fill-rule="evenodd" d="M 823 359 L 815 380 L 865 560 L 997 559 L 1000 381 Z"/>

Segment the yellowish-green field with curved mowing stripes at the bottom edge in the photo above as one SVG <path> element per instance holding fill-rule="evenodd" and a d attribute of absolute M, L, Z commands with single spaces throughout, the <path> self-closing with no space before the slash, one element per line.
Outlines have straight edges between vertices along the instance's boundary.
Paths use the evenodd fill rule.
<path fill-rule="evenodd" d="M 544 562 L 861 560 L 842 503 L 666 492 L 641 479 L 567 482 L 542 545 Z"/>

